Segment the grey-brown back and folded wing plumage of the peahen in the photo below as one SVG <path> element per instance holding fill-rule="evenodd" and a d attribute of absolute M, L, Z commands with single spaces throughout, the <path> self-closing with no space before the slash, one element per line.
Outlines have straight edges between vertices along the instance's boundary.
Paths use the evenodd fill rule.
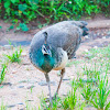
<path fill-rule="evenodd" d="M 85 25 L 87 23 L 84 21 L 63 21 L 56 23 L 36 33 L 31 46 L 38 50 L 44 44 L 43 32 L 47 32 L 47 43 L 55 50 L 62 47 L 67 52 L 68 58 L 72 58 L 80 44 Z"/>

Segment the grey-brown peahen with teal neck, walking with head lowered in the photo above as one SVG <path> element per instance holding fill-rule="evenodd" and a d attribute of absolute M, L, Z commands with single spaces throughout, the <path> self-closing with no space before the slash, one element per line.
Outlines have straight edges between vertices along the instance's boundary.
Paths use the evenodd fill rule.
<path fill-rule="evenodd" d="M 61 70 L 61 80 L 55 96 L 58 94 L 61 82 L 68 59 L 77 51 L 81 36 L 88 34 L 85 21 L 63 21 L 37 32 L 30 45 L 30 58 L 33 65 L 44 73 L 52 103 L 51 84 L 48 73 Z"/>

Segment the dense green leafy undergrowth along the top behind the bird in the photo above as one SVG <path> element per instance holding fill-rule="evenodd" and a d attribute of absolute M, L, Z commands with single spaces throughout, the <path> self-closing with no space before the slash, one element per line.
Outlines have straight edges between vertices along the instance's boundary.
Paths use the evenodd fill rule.
<path fill-rule="evenodd" d="M 29 31 L 30 21 L 52 23 L 63 20 L 79 20 L 97 13 L 109 15 L 109 0 L 0 0 L 0 18 L 11 20 L 11 30 Z M 42 28 L 43 25 L 38 25 Z M 2 26 L 1 26 L 2 28 Z"/>

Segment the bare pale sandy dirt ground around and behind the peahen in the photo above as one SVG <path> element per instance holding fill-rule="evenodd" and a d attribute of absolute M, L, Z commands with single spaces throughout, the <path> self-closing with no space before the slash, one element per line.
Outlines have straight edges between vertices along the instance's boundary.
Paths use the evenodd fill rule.
<path fill-rule="evenodd" d="M 2 29 L 0 30 L 0 59 L 3 57 L 2 54 L 12 53 L 12 50 L 4 48 L 4 44 L 7 44 L 6 42 L 8 40 L 20 42 L 31 41 L 33 35 L 38 31 L 36 29 L 26 33 L 13 33 L 14 30 L 6 32 L 10 24 L 0 20 L 0 25 L 2 25 Z M 110 20 L 88 21 L 88 28 L 90 29 L 90 35 L 82 38 L 82 43 L 76 52 L 76 58 L 74 61 L 84 59 L 85 57 L 82 52 L 88 51 L 91 47 L 102 47 L 110 44 Z M 3 101 L 3 103 L 7 105 L 8 110 L 25 110 L 26 103 L 38 108 L 41 96 L 44 95 L 44 97 L 48 97 L 48 89 L 45 85 L 45 77 L 43 73 L 37 70 L 29 59 L 30 46 L 28 45 L 22 47 L 22 63 L 9 64 L 6 80 L 2 85 L 0 85 L 0 105 Z M 70 67 L 66 67 L 66 74 L 59 89 L 59 96 L 67 94 L 70 89 L 70 80 L 77 77 L 76 73 L 81 70 L 82 65 L 84 64 L 78 64 L 77 66 L 72 65 Z M 59 72 L 55 70 L 50 73 L 52 95 L 55 94 L 59 81 L 58 74 Z M 96 109 L 87 108 L 87 110 Z"/>

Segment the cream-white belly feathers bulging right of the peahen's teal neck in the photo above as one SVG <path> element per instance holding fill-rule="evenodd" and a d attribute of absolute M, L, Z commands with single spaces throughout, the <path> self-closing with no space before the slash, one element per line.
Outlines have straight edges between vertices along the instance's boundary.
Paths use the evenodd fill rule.
<path fill-rule="evenodd" d="M 56 59 L 56 65 L 54 67 L 54 70 L 61 70 L 63 68 L 65 68 L 67 62 L 68 62 L 68 56 L 67 56 L 67 53 L 66 51 L 64 51 L 63 48 L 58 47 L 57 48 L 57 54 L 58 54 L 58 57 Z"/>

